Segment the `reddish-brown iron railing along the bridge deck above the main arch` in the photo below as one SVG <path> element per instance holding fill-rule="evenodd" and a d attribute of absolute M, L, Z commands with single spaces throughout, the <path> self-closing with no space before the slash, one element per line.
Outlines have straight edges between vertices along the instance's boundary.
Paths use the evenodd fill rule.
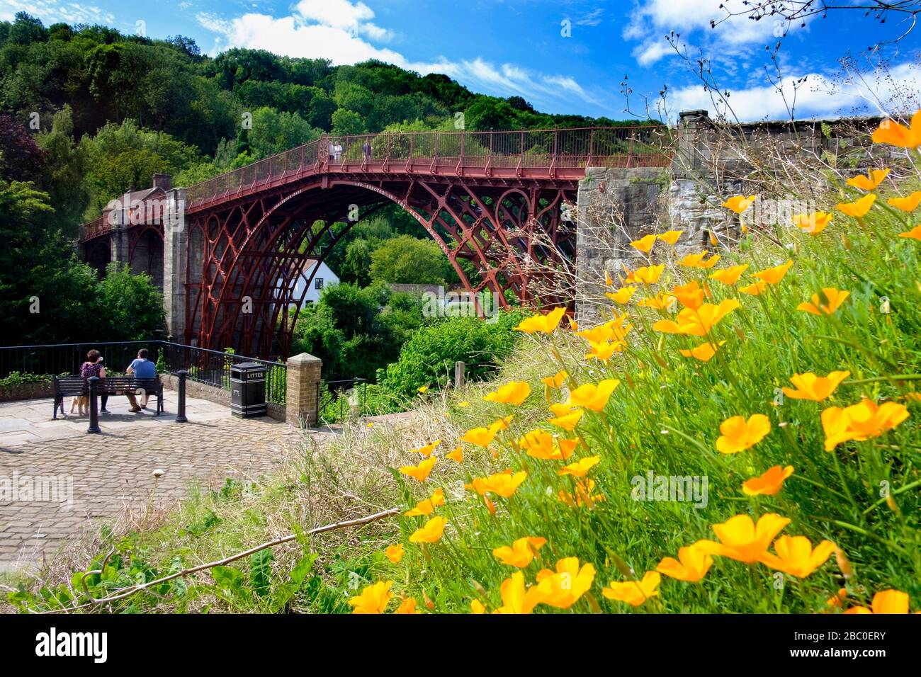
<path fill-rule="evenodd" d="M 664 167 L 670 163 L 668 127 L 584 127 L 502 132 L 388 132 L 321 136 L 304 146 L 234 169 L 186 190 L 186 205 L 251 193 L 266 183 L 311 171 L 432 169 L 583 169 Z"/>

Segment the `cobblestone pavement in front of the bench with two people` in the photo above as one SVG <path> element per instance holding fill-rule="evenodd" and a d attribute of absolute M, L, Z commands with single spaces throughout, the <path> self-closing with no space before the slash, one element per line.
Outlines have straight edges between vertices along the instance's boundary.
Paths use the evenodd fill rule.
<path fill-rule="evenodd" d="M 0 403 L 0 570 L 40 562 L 126 508 L 144 510 L 155 470 L 164 472 L 153 502 L 161 508 L 187 496 L 192 483 L 216 487 L 268 473 L 301 439 L 284 423 L 234 418 L 222 404 L 192 398 L 189 422 L 176 423 L 170 395 L 157 417 L 130 414 L 123 398 L 112 398 L 99 435 L 87 435 L 86 418 L 53 421 L 50 401 Z"/>

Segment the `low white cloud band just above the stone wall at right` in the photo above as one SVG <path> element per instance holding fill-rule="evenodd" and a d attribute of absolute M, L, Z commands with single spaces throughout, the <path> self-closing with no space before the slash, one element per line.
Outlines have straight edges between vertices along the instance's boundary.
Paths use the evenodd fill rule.
<path fill-rule="evenodd" d="M 917 64 L 898 64 L 889 71 L 877 68 L 864 76 L 847 74 L 834 79 L 820 73 L 806 74 L 806 82 L 794 96 L 794 82 L 800 77 L 789 77 L 783 85 L 787 103 L 795 101 L 799 119 L 914 111 L 919 105 L 921 69 Z M 712 94 L 699 86 L 679 88 L 671 92 L 670 106 L 675 111 L 703 109 L 711 115 L 725 111 L 725 103 L 715 101 Z M 785 97 L 770 85 L 730 89 L 729 105 L 740 121 L 785 119 L 789 116 Z"/>

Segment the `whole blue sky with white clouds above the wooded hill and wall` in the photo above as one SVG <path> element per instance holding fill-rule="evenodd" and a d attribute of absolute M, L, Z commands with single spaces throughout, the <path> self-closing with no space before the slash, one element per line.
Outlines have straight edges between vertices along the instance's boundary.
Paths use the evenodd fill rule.
<path fill-rule="evenodd" d="M 724 0 L 740 6 L 741 0 Z M 334 64 L 379 58 L 420 73 L 440 72 L 474 91 L 518 94 L 549 112 L 627 117 L 621 82 L 644 95 L 669 88 L 666 115 L 719 107 L 664 40 L 681 35 L 689 52 L 712 60 L 740 119 L 787 117 L 770 85 L 766 44 L 776 41 L 772 19 L 737 18 L 709 28 L 721 16 L 719 0 L 162 0 L 138 6 L 126 0 L 0 0 L 0 18 L 25 10 L 54 21 L 104 23 L 143 29 L 161 38 L 182 34 L 204 53 L 229 47 L 325 57 Z M 808 76 L 796 91 L 798 117 L 856 111 L 907 110 L 921 91 L 921 28 L 869 61 L 867 48 L 902 32 L 899 18 L 884 26 L 860 11 L 813 18 L 784 38 L 779 64 L 790 80 Z M 859 65 L 843 69 L 851 53 Z M 908 96 L 900 94 L 904 90 Z M 894 99 L 893 99 L 894 97 Z"/>

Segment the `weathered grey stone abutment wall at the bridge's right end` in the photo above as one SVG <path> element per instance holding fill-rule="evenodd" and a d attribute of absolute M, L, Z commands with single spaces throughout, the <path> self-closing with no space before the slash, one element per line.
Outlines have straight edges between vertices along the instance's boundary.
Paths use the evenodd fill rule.
<path fill-rule="evenodd" d="M 576 317 L 592 324 L 604 298 L 605 273 L 647 259 L 630 246 L 650 232 L 682 230 L 676 253 L 731 247 L 740 218 L 722 206 L 730 195 L 757 194 L 746 223 L 789 223 L 829 189 L 818 168 L 848 175 L 888 164 L 891 151 L 869 143 L 880 118 L 717 125 L 706 111 L 685 111 L 668 169 L 589 168 L 577 197 Z"/>

